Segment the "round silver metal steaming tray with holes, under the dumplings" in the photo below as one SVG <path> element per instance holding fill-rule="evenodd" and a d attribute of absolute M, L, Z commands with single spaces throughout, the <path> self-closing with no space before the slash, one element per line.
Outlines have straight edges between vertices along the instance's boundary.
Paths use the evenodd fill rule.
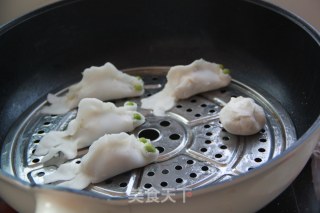
<path fill-rule="evenodd" d="M 128 69 L 131 75 L 145 82 L 142 97 L 113 101 L 123 105 L 127 100 L 140 106 L 140 99 L 160 91 L 166 83 L 168 67 Z M 63 94 L 67 89 L 59 92 Z M 220 124 L 218 113 L 231 97 L 253 98 L 267 116 L 264 128 L 252 136 L 228 133 Z M 76 110 L 65 115 L 43 115 L 40 110 L 47 102 L 36 103 L 19 120 L 5 140 L 1 153 L 4 171 L 27 182 L 41 184 L 44 176 L 65 162 L 63 155 L 45 164 L 33 155 L 41 138 L 51 130 L 64 130 L 75 118 Z M 190 190 L 214 182 L 229 180 L 255 169 L 281 154 L 296 140 L 289 116 L 268 94 L 257 92 L 233 80 L 228 87 L 180 100 L 166 116 L 156 117 L 149 110 L 138 109 L 146 122 L 132 133 L 151 139 L 159 150 L 157 162 L 118 175 L 85 190 L 112 197 L 134 196 L 153 187 Z M 112 122 L 112 121 L 111 121 Z M 81 162 L 87 149 L 78 151 L 72 161 Z"/>

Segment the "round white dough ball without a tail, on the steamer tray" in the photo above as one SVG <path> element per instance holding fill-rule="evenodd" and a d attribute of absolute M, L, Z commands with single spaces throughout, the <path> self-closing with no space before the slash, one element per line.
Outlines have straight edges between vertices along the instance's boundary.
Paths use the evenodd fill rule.
<path fill-rule="evenodd" d="M 252 135 L 259 132 L 266 123 L 261 106 L 253 99 L 242 96 L 231 100 L 220 111 L 222 126 L 231 134 Z"/>

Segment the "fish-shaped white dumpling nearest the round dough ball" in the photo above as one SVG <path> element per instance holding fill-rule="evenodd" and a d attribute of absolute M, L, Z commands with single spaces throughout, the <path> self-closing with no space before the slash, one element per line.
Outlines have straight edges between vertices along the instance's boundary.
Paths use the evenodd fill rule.
<path fill-rule="evenodd" d="M 163 116 L 179 99 L 227 86 L 231 81 L 228 69 L 203 59 L 186 66 L 171 67 L 164 88 L 141 100 L 142 108 L 152 109 L 153 114 Z"/>

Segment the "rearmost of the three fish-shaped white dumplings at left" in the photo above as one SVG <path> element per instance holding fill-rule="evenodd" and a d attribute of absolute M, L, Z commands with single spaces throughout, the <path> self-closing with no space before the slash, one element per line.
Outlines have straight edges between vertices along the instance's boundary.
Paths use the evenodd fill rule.
<path fill-rule="evenodd" d="M 119 71 L 113 64 L 92 66 L 82 73 L 82 80 L 72 85 L 63 96 L 48 94 L 51 104 L 42 109 L 45 114 L 64 114 L 78 106 L 83 98 L 97 98 L 102 101 L 140 96 L 144 93 L 141 78 Z"/>

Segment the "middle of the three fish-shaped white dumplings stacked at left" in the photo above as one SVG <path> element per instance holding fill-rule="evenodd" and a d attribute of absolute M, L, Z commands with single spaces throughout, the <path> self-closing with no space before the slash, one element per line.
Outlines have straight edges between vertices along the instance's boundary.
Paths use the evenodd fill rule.
<path fill-rule="evenodd" d="M 77 116 L 70 121 L 65 131 L 51 131 L 39 142 L 34 155 L 44 156 L 45 162 L 59 152 L 67 159 L 75 158 L 77 149 L 90 146 L 105 134 L 130 132 L 145 122 L 134 102 L 123 107 L 104 103 L 95 98 L 85 98 L 79 103 Z"/>

